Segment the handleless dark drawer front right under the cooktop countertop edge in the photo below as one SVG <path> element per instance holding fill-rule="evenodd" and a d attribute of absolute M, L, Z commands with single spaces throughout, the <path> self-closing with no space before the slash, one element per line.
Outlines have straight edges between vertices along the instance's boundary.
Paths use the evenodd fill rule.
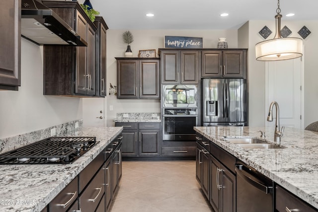
<path fill-rule="evenodd" d="M 105 161 L 105 152 L 100 152 L 80 173 L 79 173 L 79 193 L 85 188 L 94 174 Z"/>

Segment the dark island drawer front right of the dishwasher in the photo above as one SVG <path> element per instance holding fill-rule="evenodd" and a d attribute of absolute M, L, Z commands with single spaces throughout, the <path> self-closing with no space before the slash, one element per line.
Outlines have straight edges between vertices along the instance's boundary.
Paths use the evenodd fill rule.
<path fill-rule="evenodd" d="M 313 209 L 295 195 L 276 186 L 276 210 L 278 212 L 286 212 L 287 208 L 292 212 L 317 212 L 317 210 Z"/>

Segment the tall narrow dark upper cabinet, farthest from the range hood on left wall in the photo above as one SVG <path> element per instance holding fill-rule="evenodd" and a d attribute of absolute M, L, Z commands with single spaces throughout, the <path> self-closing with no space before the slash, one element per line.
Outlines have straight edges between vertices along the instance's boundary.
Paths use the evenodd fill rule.
<path fill-rule="evenodd" d="M 108 26 L 102 16 L 94 21 L 96 31 L 96 95 L 106 96 L 106 30 Z"/>

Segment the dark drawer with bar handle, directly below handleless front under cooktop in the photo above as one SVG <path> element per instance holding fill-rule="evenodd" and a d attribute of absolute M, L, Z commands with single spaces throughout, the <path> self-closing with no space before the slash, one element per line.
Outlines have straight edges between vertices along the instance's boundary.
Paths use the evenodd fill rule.
<path fill-rule="evenodd" d="M 105 170 L 102 167 L 79 197 L 80 211 L 95 211 L 105 193 Z"/>

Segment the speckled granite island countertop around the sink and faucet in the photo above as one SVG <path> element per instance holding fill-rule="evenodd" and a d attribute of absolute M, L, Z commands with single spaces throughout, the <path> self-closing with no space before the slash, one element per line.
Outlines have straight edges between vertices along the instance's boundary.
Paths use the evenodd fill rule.
<path fill-rule="evenodd" d="M 260 137 L 274 143 L 274 128 L 195 127 L 195 131 L 255 168 L 291 193 L 318 209 L 318 133 L 285 128 L 285 148 L 247 149 L 225 141 L 226 137 Z"/>

